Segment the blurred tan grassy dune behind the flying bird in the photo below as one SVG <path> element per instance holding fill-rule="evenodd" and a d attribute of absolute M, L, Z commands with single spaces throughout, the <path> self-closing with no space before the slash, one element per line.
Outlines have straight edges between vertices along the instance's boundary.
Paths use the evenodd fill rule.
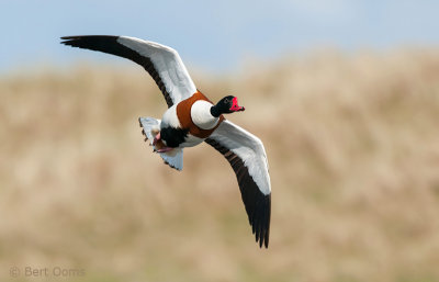
<path fill-rule="evenodd" d="M 266 144 L 270 248 L 206 145 L 173 171 L 138 116 L 166 104 L 126 63 L 0 78 L 0 281 L 439 281 L 439 52 L 322 53 L 194 75 Z"/>

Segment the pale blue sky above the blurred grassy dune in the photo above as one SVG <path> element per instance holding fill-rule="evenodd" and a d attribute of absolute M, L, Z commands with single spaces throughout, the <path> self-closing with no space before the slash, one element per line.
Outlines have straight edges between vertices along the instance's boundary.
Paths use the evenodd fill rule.
<path fill-rule="evenodd" d="M 248 57 L 270 59 L 325 46 L 439 46 L 439 1 L 434 0 L 8 0 L 0 10 L 1 71 L 112 60 L 59 44 L 60 36 L 82 34 L 156 41 L 176 48 L 188 65 L 212 71 L 233 69 Z"/>

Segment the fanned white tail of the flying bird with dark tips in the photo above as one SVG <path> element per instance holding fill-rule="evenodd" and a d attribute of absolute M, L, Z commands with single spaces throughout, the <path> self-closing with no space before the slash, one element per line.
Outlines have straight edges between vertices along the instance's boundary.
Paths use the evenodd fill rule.
<path fill-rule="evenodd" d="M 139 117 L 138 122 L 142 127 L 142 133 L 145 136 L 145 142 L 149 139 L 150 146 L 154 147 L 154 151 L 157 151 L 156 145 L 154 145 L 154 137 L 160 132 L 160 120 L 154 117 Z M 166 153 L 159 153 L 165 163 L 177 170 L 183 169 L 183 149 L 175 148 Z"/>

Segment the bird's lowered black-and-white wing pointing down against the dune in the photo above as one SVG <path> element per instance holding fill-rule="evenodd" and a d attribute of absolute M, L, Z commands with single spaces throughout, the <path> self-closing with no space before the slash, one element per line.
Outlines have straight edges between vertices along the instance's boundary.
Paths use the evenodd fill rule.
<path fill-rule="evenodd" d="M 221 123 L 205 142 L 223 154 L 234 169 L 256 241 L 268 248 L 271 185 L 262 142 L 228 121 Z"/>

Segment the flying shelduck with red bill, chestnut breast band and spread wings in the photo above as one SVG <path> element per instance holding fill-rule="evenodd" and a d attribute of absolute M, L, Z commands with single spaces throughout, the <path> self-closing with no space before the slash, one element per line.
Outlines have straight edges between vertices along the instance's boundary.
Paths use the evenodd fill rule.
<path fill-rule="evenodd" d="M 271 184 L 262 142 L 224 117 L 241 112 L 236 97 L 213 103 L 193 83 L 179 54 L 165 45 L 128 36 L 85 35 L 61 37 L 61 44 L 131 59 L 153 77 L 168 110 L 161 120 L 139 117 L 145 140 L 167 165 L 183 168 L 183 149 L 203 142 L 219 151 L 238 180 L 243 202 L 259 246 L 268 248 Z"/>

